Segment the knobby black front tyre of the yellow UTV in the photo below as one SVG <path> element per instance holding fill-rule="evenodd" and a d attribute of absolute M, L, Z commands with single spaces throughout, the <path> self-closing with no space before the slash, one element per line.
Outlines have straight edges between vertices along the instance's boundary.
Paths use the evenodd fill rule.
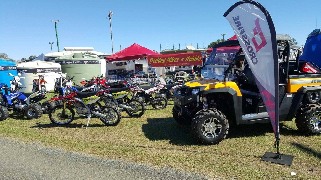
<path fill-rule="evenodd" d="M 220 123 L 221 129 L 217 136 L 209 138 L 203 134 L 202 130 L 204 131 L 203 124 L 205 122 L 210 122 L 212 118 Z M 191 126 L 194 139 L 204 145 L 221 143 L 229 132 L 229 123 L 225 115 L 221 111 L 212 108 L 198 111 L 191 122 Z"/>

